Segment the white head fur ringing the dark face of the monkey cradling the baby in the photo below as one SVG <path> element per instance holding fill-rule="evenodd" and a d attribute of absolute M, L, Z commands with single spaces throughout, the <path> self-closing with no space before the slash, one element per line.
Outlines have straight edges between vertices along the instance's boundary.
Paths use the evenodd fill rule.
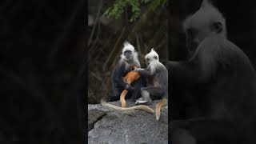
<path fill-rule="evenodd" d="M 124 52 L 126 50 L 130 50 L 132 52 L 132 58 L 130 59 L 130 61 L 128 62 L 128 60 L 126 59 L 126 57 L 123 55 Z M 126 62 L 126 66 L 141 66 L 140 62 L 138 61 L 138 53 L 135 50 L 134 46 L 131 45 L 129 42 L 124 42 L 123 43 L 123 47 L 122 47 L 122 54 L 120 55 L 121 57 L 121 62 L 124 61 Z"/>

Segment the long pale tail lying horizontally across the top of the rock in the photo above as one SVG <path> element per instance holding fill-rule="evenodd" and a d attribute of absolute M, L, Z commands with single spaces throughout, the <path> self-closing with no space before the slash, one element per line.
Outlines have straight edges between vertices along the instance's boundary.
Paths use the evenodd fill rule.
<path fill-rule="evenodd" d="M 111 105 L 111 104 L 107 103 L 104 99 L 102 99 L 101 103 L 102 103 L 102 106 L 110 107 L 114 110 L 122 110 L 122 111 L 126 111 L 126 110 L 144 110 L 146 112 L 154 114 L 154 110 L 151 109 L 149 106 L 145 106 L 145 105 L 138 105 L 138 106 L 132 106 L 132 107 L 119 107 L 119 106 L 114 106 L 114 105 Z"/>

